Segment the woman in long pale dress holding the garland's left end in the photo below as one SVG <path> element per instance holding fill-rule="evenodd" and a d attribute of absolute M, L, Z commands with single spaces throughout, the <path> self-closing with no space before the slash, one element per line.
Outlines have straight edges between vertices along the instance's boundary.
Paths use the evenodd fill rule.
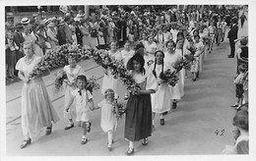
<path fill-rule="evenodd" d="M 24 81 L 22 89 L 22 129 L 25 139 L 21 148 L 27 147 L 32 142 L 32 137 L 39 134 L 42 128 L 47 127 L 45 134 L 51 134 L 52 122 L 59 120 L 57 113 L 50 102 L 45 84 L 41 77 L 49 75 L 49 71 L 29 79 L 29 74 L 39 62 L 40 57 L 34 53 L 33 43 L 24 43 L 25 57 L 21 58 L 16 69 L 19 78 Z"/>

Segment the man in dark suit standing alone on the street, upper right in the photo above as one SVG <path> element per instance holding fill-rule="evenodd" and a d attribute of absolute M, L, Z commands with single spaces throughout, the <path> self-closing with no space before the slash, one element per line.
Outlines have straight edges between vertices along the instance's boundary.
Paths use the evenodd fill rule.
<path fill-rule="evenodd" d="M 228 58 L 234 57 L 234 50 L 235 50 L 234 40 L 237 39 L 237 32 L 238 32 L 237 18 L 232 18 L 231 22 L 232 22 L 232 25 L 227 34 L 227 38 L 229 38 L 229 45 L 230 45 L 230 55 L 227 55 Z"/>

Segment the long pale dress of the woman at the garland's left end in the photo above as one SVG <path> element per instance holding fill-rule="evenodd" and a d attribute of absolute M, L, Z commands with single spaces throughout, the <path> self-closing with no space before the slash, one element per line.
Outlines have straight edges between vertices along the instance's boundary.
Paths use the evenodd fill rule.
<path fill-rule="evenodd" d="M 39 62 L 40 57 L 34 55 L 32 63 L 28 65 L 25 57 L 16 64 L 16 70 L 28 77 L 33 67 Z M 45 84 L 41 78 L 24 83 L 22 88 L 22 129 L 23 134 L 31 137 L 41 132 L 42 128 L 49 127 L 51 122 L 56 123 L 59 117 L 54 110 Z"/>

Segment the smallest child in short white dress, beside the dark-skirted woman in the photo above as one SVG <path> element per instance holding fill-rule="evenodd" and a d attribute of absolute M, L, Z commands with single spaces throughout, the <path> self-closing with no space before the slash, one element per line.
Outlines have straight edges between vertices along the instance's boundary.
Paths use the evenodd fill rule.
<path fill-rule="evenodd" d="M 94 110 L 101 108 L 100 126 L 104 133 L 107 133 L 107 148 L 112 150 L 113 132 L 115 131 L 116 117 L 114 110 L 118 113 L 116 108 L 116 102 L 114 101 L 114 91 L 112 89 L 106 89 L 104 92 L 105 99 L 98 103 Z"/>

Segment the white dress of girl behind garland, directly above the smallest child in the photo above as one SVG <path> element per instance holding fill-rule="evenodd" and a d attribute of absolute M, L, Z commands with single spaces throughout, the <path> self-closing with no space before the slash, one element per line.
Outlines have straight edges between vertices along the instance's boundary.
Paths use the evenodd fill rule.
<path fill-rule="evenodd" d="M 116 60 L 121 61 L 122 60 L 122 55 L 121 53 L 117 50 L 115 53 L 112 53 L 111 51 L 108 52 L 108 54 L 111 57 L 114 57 Z M 108 88 L 111 88 L 114 90 L 115 93 L 115 98 L 118 97 L 118 85 L 119 85 L 120 80 L 115 79 L 112 75 L 109 69 L 107 69 L 107 74 L 104 74 L 103 81 L 102 81 L 102 87 L 101 87 L 101 93 L 104 94 L 104 91 Z"/>

